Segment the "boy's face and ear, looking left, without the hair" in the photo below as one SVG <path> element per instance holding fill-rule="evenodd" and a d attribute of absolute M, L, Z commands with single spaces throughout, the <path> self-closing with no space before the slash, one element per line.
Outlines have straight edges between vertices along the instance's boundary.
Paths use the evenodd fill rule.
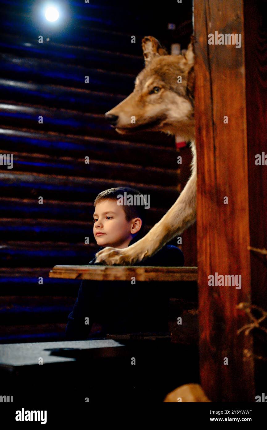
<path fill-rule="evenodd" d="M 116 200 L 101 200 L 95 206 L 93 217 L 94 237 L 97 245 L 103 247 L 127 248 L 132 235 L 142 225 L 141 218 L 126 221 L 123 207 L 117 205 Z"/>

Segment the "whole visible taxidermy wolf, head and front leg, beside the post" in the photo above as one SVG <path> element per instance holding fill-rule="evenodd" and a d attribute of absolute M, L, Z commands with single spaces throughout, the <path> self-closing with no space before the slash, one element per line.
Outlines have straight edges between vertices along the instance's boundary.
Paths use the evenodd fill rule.
<path fill-rule="evenodd" d="M 127 248 L 108 246 L 96 254 L 96 262 L 108 265 L 134 264 L 154 255 L 196 219 L 193 37 L 185 55 L 168 55 L 152 36 L 143 38 L 142 48 L 145 68 L 138 74 L 133 92 L 107 112 L 106 118 L 121 134 L 163 131 L 190 141 L 191 176 L 176 202 L 146 236 Z M 178 76 L 182 83 L 177 83 Z M 135 123 L 131 122 L 133 116 Z"/>

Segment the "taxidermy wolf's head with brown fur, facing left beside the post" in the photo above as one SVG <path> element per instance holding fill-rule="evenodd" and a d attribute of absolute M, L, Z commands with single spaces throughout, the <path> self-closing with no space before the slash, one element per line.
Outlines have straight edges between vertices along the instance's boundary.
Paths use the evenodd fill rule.
<path fill-rule="evenodd" d="M 145 68 L 138 74 L 133 92 L 106 112 L 106 119 L 121 134 L 163 131 L 193 139 L 193 38 L 185 55 L 168 55 L 152 36 L 143 38 L 142 48 Z"/>

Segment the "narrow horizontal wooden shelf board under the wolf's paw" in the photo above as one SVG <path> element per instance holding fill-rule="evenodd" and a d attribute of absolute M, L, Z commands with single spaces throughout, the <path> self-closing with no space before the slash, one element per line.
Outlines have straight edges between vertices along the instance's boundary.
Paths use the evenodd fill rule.
<path fill-rule="evenodd" d="M 95 281 L 196 281 L 197 267 L 153 266 L 60 266 L 53 267 L 50 278 L 90 279 Z"/>

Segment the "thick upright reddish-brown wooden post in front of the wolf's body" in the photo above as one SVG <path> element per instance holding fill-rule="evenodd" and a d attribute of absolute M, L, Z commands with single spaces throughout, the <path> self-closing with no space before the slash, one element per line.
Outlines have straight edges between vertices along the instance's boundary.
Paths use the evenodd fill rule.
<path fill-rule="evenodd" d="M 255 401 L 252 337 L 237 334 L 251 293 L 243 1 L 199 0 L 194 18 L 201 385 L 214 402 Z M 209 45 L 215 31 L 242 34 L 242 46 Z M 215 273 L 242 287 L 210 286 Z"/>

